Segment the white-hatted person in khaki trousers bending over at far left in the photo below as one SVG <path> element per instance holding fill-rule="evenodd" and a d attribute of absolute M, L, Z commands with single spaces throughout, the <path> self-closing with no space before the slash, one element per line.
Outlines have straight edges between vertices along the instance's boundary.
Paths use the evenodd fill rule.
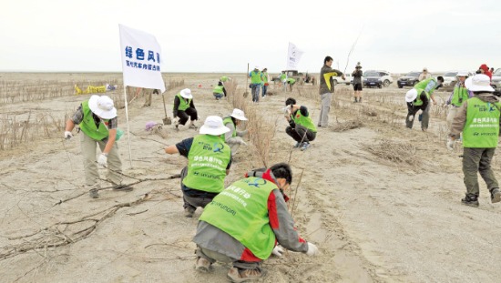
<path fill-rule="evenodd" d="M 71 131 L 78 125 L 82 132 L 80 146 L 84 159 L 85 183 L 90 197 L 97 198 L 99 173 L 97 164 L 108 168 L 107 180 L 114 189 L 128 191 L 132 187 L 122 185 L 122 162 L 118 156 L 116 140 L 118 135 L 117 108 L 108 96 L 90 96 L 78 106 L 75 114 L 66 121 L 65 138 L 73 137 Z M 96 159 L 96 146 L 101 154 Z"/>

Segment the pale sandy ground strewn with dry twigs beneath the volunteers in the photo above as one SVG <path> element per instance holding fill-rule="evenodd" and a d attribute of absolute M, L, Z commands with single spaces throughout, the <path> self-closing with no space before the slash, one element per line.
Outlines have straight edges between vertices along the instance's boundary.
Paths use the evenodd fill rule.
<path fill-rule="evenodd" d="M 0 79 L 57 78 L 60 84 L 72 84 L 75 76 L 89 81 L 104 77 L 2 74 Z M 211 85 L 217 83 L 219 76 L 176 75 L 185 79 L 185 87 L 192 89 L 202 120 L 231 112 L 227 100 L 216 101 L 211 95 Z M 234 78 L 241 82 L 240 87 L 244 86 L 243 76 Z M 458 158 L 461 149 L 445 149 L 444 116 L 435 112 L 428 133 L 422 132 L 417 123 L 409 130 L 404 127 L 405 90 L 395 86 L 364 89 L 364 102 L 356 105 L 348 90 L 348 86 L 338 86 L 330 115 L 332 126 L 319 129 L 312 147 L 304 152 L 291 148 L 294 143 L 285 134 L 287 124 L 279 110 L 287 96 L 294 96 L 299 104 L 311 109 L 316 121 L 317 87 L 298 87 L 288 94 L 279 92 L 253 106 L 263 115 L 278 118 L 271 164 L 287 161 L 291 154 L 291 187 L 297 187 L 297 196 L 290 192 L 297 206 L 293 217 L 302 236 L 321 250 L 313 258 L 294 252 L 270 258 L 264 263 L 269 275 L 261 281 L 499 282 L 501 207 L 490 203 L 483 182 L 480 207 L 460 204 L 465 193 Z M 243 88 L 238 92 L 242 93 Z M 176 93 L 177 90 L 169 90 L 165 94 L 169 116 Z M 117 91 L 109 95 L 122 94 Z M 41 113 L 53 109 L 64 115 L 87 97 L 68 94 L 44 101 L 0 105 L 0 111 Z M 63 136 L 61 132 L 54 138 L 0 152 L 0 281 L 226 280 L 225 265 L 217 264 L 210 274 L 193 270 L 195 245 L 191 238 L 200 209 L 194 218 L 183 216 L 179 178 L 169 177 L 178 174 L 187 160 L 163 151 L 165 146 L 197 132 L 186 127 L 176 132 L 172 126 L 166 126 L 165 139 L 149 134 L 144 130 L 145 123 L 161 123 L 165 116 L 162 99 L 153 96 L 152 106 L 142 104 L 140 98 L 129 106 L 132 167 L 128 136 L 118 142 L 124 174 L 129 177 L 126 180 L 139 182 L 132 192 L 104 190 L 98 199 L 87 196 L 82 188 L 78 136 L 66 142 L 59 137 Z M 366 115 L 374 110 L 377 116 Z M 121 127 L 125 127 L 124 109 L 118 110 L 118 115 Z M 353 119 L 362 121 L 363 126 L 334 131 L 336 125 Z M 409 155 L 417 162 L 409 165 L 389 161 L 367 150 L 384 138 L 411 143 L 416 150 L 414 156 Z M 252 154 L 251 144 L 242 149 L 227 184 L 252 167 L 261 167 L 261 161 Z M 499 176 L 498 157 L 493 166 Z M 105 178 L 106 171 L 102 169 L 101 173 Z M 102 185 L 106 183 L 103 181 Z M 138 203 L 130 204 L 134 201 Z M 87 230 L 93 225 L 95 229 Z M 83 232 L 75 234 L 77 231 Z M 87 237 L 77 237 L 86 231 L 90 231 Z M 57 240 L 67 244 L 51 247 L 50 243 Z M 29 249 L 35 246 L 39 248 Z"/>

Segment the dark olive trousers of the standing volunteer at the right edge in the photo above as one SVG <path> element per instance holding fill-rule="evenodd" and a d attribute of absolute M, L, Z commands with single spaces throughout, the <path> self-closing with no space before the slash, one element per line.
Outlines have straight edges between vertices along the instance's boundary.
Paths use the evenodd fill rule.
<path fill-rule="evenodd" d="M 465 147 L 463 149 L 463 173 L 465 174 L 466 196 L 478 197 L 480 193 L 477 173 L 480 173 L 489 191 L 499 187 L 491 168 L 491 161 L 495 151 L 496 148 Z"/>

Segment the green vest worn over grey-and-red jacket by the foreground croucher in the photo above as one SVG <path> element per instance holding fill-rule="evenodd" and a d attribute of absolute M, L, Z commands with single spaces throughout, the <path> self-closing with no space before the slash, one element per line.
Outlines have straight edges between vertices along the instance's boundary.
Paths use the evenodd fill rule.
<path fill-rule="evenodd" d="M 269 258 L 275 246 L 275 234 L 268 216 L 268 197 L 276 188 L 261 177 L 236 181 L 212 199 L 199 220 L 236 238 L 257 258 Z"/>

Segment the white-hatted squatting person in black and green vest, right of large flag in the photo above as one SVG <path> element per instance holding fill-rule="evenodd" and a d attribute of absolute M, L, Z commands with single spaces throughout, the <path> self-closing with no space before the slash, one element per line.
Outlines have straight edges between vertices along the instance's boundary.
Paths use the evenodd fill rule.
<path fill-rule="evenodd" d="M 197 114 L 195 104 L 193 103 L 193 96 L 191 95 L 191 90 L 189 88 L 181 90 L 179 94 L 174 96 L 172 115 L 174 116 L 174 119 L 179 117 L 179 120 L 177 120 L 174 124 L 176 129 L 179 129 L 179 125 L 184 126 L 186 122 L 188 122 L 188 118 L 191 120 L 189 128 L 197 128 L 197 126 L 195 126 L 195 121 L 199 119 L 199 116 Z"/>

